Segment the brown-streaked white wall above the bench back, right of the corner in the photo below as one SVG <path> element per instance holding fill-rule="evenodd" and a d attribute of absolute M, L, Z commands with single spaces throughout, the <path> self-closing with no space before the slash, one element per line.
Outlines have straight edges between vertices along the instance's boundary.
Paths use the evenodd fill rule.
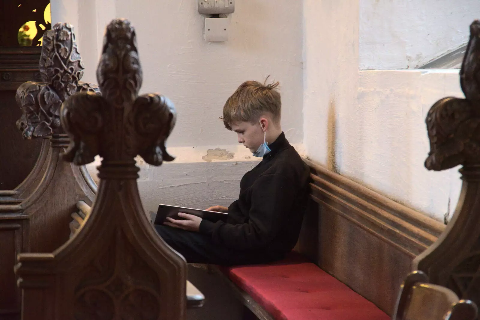
<path fill-rule="evenodd" d="M 463 96 L 458 70 L 359 71 L 359 3 L 304 0 L 306 153 L 443 221 L 458 200 L 458 168 L 424 168 L 429 152 L 424 121 L 438 99 Z"/>

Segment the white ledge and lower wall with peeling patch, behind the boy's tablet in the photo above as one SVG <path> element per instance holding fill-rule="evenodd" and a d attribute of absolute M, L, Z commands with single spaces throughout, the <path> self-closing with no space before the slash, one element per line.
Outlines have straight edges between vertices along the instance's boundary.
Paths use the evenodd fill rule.
<path fill-rule="evenodd" d="M 293 146 L 301 156 L 306 155 L 302 144 Z M 215 152 L 216 149 L 222 151 Z M 172 147 L 168 152 L 176 159 L 159 167 L 136 158 L 140 168 L 138 189 L 147 214 L 156 212 L 160 203 L 193 208 L 229 206 L 238 198 L 243 174 L 261 160 L 242 145 Z M 208 154 L 214 156 L 206 157 Z M 96 183 L 99 183 L 96 169 L 99 164 L 100 158 L 96 157 L 95 162 L 86 166 Z"/>

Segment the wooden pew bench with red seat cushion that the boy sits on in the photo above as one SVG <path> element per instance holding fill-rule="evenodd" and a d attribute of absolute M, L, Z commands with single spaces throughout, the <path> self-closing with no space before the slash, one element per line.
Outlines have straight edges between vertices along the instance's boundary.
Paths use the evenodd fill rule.
<path fill-rule="evenodd" d="M 305 161 L 311 193 L 295 251 L 278 263 L 209 269 L 246 307 L 244 319 L 390 319 L 412 260 L 444 225 Z"/>

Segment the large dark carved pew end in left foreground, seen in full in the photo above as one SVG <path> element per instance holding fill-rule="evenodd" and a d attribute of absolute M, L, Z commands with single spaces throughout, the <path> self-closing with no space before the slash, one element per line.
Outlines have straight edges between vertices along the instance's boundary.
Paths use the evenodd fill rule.
<path fill-rule="evenodd" d="M 175 109 L 164 96 L 137 96 L 142 69 L 130 22 L 108 24 L 97 79 L 102 96 L 73 94 L 60 112 L 72 139 L 65 159 L 103 158 L 97 198 L 58 250 L 18 256 L 23 319 L 184 319 L 186 262 L 150 225 L 134 160 L 173 160 L 165 140 Z"/>

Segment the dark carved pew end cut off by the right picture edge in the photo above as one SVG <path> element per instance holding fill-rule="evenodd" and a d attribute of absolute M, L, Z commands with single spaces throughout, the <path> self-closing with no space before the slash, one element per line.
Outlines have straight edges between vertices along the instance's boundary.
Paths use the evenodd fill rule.
<path fill-rule="evenodd" d="M 465 99 L 446 97 L 430 109 L 426 124 L 431 151 L 425 167 L 446 170 L 463 165 L 462 191 L 444 233 L 413 262 L 434 284 L 446 286 L 480 305 L 480 22 L 460 70 Z"/>

